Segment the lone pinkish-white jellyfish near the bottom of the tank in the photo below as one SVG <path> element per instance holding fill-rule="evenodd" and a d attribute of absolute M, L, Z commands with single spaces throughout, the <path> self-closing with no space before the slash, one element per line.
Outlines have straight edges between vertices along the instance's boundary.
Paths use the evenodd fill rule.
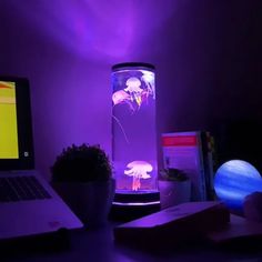
<path fill-rule="evenodd" d="M 145 161 L 133 161 L 128 163 L 128 170 L 124 170 L 124 174 L 133 177 L 132 190 L 138 191 L 141 188 L 141 179 L 150 179 L 151 175 L 148 172 L 153 170 L 153 167 Z"/>

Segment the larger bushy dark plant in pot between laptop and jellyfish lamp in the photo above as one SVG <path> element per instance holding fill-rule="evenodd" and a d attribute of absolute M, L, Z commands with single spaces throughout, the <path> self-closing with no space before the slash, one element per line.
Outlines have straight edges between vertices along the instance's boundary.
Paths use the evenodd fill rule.
<path fill-rule="evenodd" d="M 109 158 L 99 145 L 63 149 L 51 167 L 51 184 L 84 224 L 107 222 L 115 183 Z"/>

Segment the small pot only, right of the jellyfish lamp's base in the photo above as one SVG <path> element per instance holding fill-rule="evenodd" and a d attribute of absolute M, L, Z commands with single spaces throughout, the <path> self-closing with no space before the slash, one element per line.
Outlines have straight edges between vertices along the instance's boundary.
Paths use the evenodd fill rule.
<path fill-rule="evenodd" d="M 165 181 L 159 180 L 161 209 L 190 202 L 191 181 Z"/>

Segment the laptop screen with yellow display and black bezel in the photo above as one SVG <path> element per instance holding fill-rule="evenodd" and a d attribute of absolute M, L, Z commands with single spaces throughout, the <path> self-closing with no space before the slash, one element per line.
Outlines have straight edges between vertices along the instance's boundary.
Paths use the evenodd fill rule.
<path fill-rule="evenodd" d="M 0 77 L 0 171 L 33 168 L 29 81 Z"/>

